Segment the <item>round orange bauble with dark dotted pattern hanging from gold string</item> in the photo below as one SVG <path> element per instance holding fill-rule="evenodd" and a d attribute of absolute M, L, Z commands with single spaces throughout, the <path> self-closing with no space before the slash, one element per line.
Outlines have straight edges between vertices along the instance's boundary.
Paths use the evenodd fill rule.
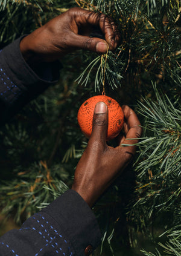
<path fill-rule="evenodd" d="M 98 95 L 87 99 L 78 110 L 78 124 L 80 129 L 86 137 L 90 137 L 92 133 L 92 120 L 94 115 L 94 108 L 98 102 L 104 102 L 108 108 L 108 129 L 107 129 L 107 140 L 112 140 L 120 133 L 123 123 L 124 114 L 119 103 L 111 97 L 104 95 Z"/>

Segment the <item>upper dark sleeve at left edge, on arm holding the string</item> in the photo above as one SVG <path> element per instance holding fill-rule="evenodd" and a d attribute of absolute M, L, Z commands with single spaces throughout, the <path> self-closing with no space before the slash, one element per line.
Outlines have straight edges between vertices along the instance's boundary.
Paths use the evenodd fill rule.
<path fill-rule="evenodd" d="M 59 79 L 58 61 L 40 64 L 38 73 L 29 67 L 19 48 L 22 38 L 0 52 L 0 125 Z"/>

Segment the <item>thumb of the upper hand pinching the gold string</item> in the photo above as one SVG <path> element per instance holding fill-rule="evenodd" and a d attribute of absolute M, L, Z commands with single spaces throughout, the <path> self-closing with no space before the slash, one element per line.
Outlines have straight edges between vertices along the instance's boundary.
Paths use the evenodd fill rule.
<path fill-rule="evenodd" d="M 106 53 L 107 42 L 100 38 L 90 38 L 89 36 L 81 36 L 80 34 L 74 34 L 74 40 L 71 40 L 69 46 L 94 51 L 95 53 Z"/>

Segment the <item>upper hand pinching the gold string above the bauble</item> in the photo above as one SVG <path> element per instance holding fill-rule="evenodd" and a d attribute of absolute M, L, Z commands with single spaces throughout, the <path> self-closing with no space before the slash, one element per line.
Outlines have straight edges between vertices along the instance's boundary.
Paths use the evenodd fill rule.
<path fill-rule="evenodd" d="M 89 37 L 95 27 L 100 27 L 106 41 Z M 115 50 L 118 41 L 118 30 L 110 18 L 75 7 L 23 38 L 20 48 L 27 62 L 51 62 L 77 49 L 106 53 L 107 44 Z"/>

